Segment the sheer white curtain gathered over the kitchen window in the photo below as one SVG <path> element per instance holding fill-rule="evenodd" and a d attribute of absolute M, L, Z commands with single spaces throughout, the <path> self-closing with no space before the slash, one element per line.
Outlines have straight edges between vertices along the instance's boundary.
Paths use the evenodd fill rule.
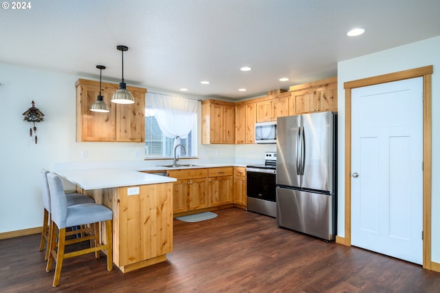
<path fill-rule="evenodd" d="M 150 92 L 146 95 L 146 105 L 153 109 L 160 129 L 167 138 L 174 138 L 174 149 L 180 144 L 180 138 L 188 136 L 197 121 L 197 100 Z M 177 149 L 177 153 L 180 153 L 180 149 Z"/>

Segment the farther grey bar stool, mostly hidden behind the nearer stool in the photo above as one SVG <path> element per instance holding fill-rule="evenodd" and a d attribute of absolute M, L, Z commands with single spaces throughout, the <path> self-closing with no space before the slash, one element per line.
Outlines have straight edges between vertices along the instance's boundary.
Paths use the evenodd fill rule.
<path fill-rule="evenodd" d="M 40 250 L 43 251 L 45 241 L 47 241 L 47 247 L 49 247 L 50 239 L 50 223 L 51 223 L 51 210 L 50 210 L 50 193 L 49 185 L 47 183 L 47 173 L 49 171 L 41 169 L 41 187 L 43 188 L 43 229 L 41 231 L 41 241 Z M 67 206 L 73 206 L 75 204 L 87 204 L 95 202 L 94 199 L 88 197 L 87 195 L 82 195 L 80 193 L 67 193 Z M 49 258 L 49 249 L 46 248 L 45 261 Z"/>

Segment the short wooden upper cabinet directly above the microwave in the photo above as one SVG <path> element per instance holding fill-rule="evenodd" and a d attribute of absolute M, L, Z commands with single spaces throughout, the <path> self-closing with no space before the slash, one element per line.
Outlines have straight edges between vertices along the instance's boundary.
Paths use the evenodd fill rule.
<path fill-rule="evenodd" d="M 256 102 L 256 122 L 276 121 L 276 118 L 289 115 L 289 97 L 287 91 L 278 95 L 271 95 L 270 100 Z"/>

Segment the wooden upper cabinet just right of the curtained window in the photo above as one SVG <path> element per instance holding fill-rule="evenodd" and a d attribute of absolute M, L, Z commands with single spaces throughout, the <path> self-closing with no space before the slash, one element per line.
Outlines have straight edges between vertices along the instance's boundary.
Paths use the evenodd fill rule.
<path fill-rule="evenodd" d="M 201 102 L 201 143 L 233 144 L 235 141 L 235 106 L 232 102 Z"/>

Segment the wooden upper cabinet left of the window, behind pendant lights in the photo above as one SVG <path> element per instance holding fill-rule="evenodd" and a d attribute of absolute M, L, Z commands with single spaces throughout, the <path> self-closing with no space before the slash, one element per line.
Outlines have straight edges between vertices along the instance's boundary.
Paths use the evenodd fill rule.
<path fill-rule="evenodd" d="M 99 95 L 99 81 L 76 81 L 76 141 L 77 142 L 144 142 L 145 93 L 140 87 L 126 87 L 135 98 L 134 104 L 111 102 L 118 84 L 102 83 L 101 95 L 109 113 L 90 111 Z"/>

